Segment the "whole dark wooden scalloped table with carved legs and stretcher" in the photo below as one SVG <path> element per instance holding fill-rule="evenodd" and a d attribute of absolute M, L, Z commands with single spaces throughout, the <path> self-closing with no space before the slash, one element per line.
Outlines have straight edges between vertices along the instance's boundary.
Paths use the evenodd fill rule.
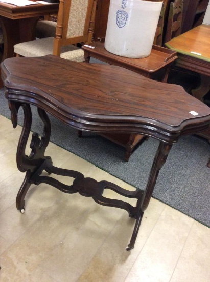
<path fill-rule="evenodd" d="M 136 219 L 126 248 L 133 249 L 159 170 L 172 145 L 182 135 L 194 134 L 208 127 L 209 107 L 186 93 L 181 86 L 156 82 L 118 66 L 77 63 L 49 55 L 8 58 L 1 67 L 13 127 L 17 125 L 20 107 L 25 116 L 17 148 L 17 167 L 26 172 L 26 176 L 17 194 L 17 209 L 24 212 L 24 198 L 31 184 L 46 183 L 65 193 L 79 192 L 92 197 L 100 205 L 124 209 Z M 43 122 L 43 134 L 32 134 L 31 153 L 26 155 L 32 123 L 30 105 L 37 107 Z M 158 139 L 160 143 L 146 188 L 128 191 L 105 180 L 97 182 L 85 178 L 80 172 L 54 167 L 51 157 L 45 156 L 51 135 L 47 113 L 77 130 L 137 133 Z M 49 175 L 42 174 L 43 171 Z M 74 179 L 73 184 L 63 184 L 51 173 L 69 176 Z M 125 199 L 135 198 L 136 205 L 106 198 L 104 189 L 111 189 Z"/>

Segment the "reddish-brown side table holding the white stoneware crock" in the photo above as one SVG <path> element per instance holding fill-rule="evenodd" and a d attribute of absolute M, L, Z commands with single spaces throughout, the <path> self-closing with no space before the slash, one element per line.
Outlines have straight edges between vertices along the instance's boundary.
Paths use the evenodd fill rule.
<path fill-rule="evenodd" d="M 94 47 L 94 48 L 90 48 Z M 176 52 L 169 52 L 167 48 L 153 45 L 151 54 L 147 58 L 126 58 L 114 55 L 104 48 L 103 42 L 91 43 L 88 46 L 82 46 L 85 54 L 85 62 L 89 62 L 90 57 L 100 59 L 103 62 L 120 66 L 149 78 L 154 78 L 158 72 L 164 71 L 161 74 L 163 82 L 167 81 L 170 65 L 177 58 Z M 102 135 L 102 134 L 101 134 Z M 81 136 L 81 132 L 79 133 Z M 129 157 L 139 142 L 142 142 L 144 136 L 137 134 L 103 134 L 104 137 L 126 148 L 125 160 L 128 161 Z"/>

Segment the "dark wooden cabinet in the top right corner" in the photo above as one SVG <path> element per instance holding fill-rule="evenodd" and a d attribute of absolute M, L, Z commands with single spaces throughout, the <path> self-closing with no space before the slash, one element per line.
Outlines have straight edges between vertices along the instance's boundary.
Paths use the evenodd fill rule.
<path fill-rule="evenodd" d="M 209 0 L 184 0 L 182 33 L 202 24 Z"/>

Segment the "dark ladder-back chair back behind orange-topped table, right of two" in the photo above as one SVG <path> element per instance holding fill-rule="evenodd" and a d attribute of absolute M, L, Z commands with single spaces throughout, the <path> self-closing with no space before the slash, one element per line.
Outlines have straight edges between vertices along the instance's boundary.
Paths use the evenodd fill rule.
<path fill-rule="evenodd" d="M 170 3 L 168 23 L 164 43 L 181 34 L 183 0 Z"/>

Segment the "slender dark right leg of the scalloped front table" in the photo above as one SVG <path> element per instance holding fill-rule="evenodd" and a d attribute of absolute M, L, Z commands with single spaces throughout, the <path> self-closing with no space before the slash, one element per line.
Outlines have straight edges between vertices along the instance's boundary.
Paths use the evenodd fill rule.
<path fill-rule="evenodd" d="M 135 240 L 138 234 L 139 227 L 141 225 L 144 211 L 147 209 L 149 205 L 150 198 L 152 196 L 152 192 L 156 184 L 157 176 L 159 174 L 161 167 L 166 162 L 166 159 L 171 150 L 171 147 L 172 145 L 165 144 L 162 142 L 160 142 L 159 144 L 159 147 L 157 149 L 157 152 L 156 152 L 156 155 L 153 161 L 153 165 L 150 171 L 150 175 L 148 178 L 147 187 L 143 193 L 141 203 L 138 206 L 138 214 L 136 218 L 136 223 L 135 223 L 135 227 L 133 230 L 133 234 L 132 234 L 130 243 L 128 244 L 128 247 L 126 248 L 127 251 L 132 250 L 134 248 Z"/>

